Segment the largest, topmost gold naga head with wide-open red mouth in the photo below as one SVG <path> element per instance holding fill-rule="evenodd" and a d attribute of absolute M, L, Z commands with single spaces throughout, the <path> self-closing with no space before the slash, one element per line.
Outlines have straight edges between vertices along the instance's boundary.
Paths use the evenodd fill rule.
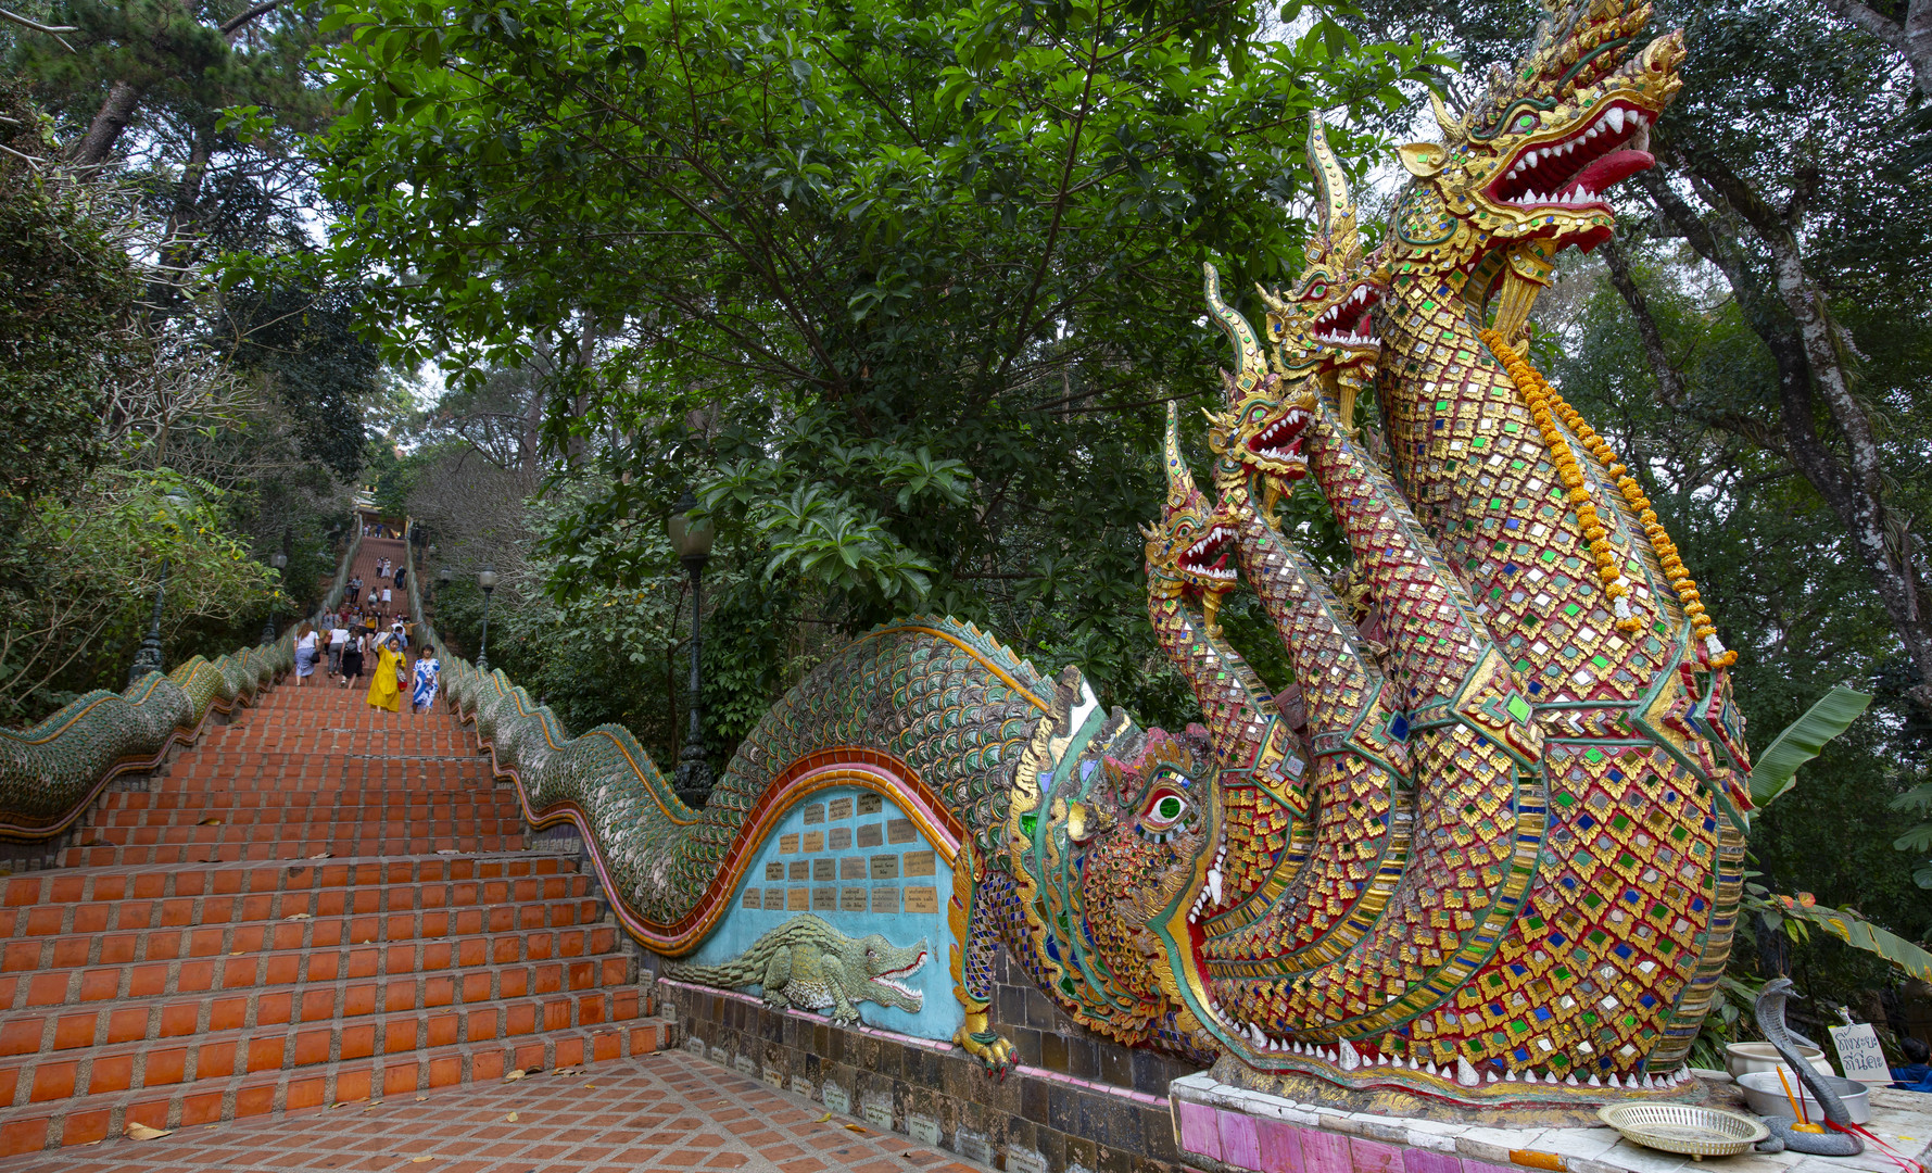
<path fill-rule="evenodd" d="M 1389 269 L 1461 272 L 1463 298 L 1515 340 L 1555 255 L 1609 240 L 1605 191 L 1656 164 L 1650 126 L 1683 87 L 1683 33 L 1642 43 L 1650 4 L 1551 0 L 1534 48 L 1497 66 L 1468 114 L 1434 99 L 1441 143 L 1401 149 L 1414 176 L 1395 209 Z"/>

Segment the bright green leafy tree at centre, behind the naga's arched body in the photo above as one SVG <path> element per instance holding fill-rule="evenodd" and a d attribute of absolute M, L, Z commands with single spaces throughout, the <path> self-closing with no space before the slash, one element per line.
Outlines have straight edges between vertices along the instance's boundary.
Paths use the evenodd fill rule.
<path fill-rule="evenodd" d="M 607 487 L 545 535 L 558 601 L 636 587 L 609 537 L 694 483 L 790 620 L 951 611 L 1157 717 L 1136 526 L 1161 404 L 1217 396 L 1200 261 L 1289 272 L 1308 110 L 1434 60 L 1235 0 L 332 19 L 369 321 L 452 385 L 535 371 L 547 450 Z"/>

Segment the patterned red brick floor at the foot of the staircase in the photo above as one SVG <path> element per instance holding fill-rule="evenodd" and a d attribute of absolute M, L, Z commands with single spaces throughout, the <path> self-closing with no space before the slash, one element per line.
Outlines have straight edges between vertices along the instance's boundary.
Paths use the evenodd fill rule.
<path fill-rule="evenodd" d="M 427 1098 L 182 1129 L 0 1161 L 0 1173 L 983 1173 L 686 1051 Z"/>

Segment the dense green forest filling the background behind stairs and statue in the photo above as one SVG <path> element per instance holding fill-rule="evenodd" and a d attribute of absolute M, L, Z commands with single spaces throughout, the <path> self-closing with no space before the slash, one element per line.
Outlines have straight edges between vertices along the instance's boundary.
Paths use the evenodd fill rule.
<path fill-rule="evenodd" d="M 1325 112 L 1370 234 L 1393 145 L 1534 31 L 1522 0 L 35 0 L 0 23 L 0 705 L 288 615 L 355 485 L 423 522 L 439 626 L 574 729 L 705 744 L 866 626 L 951 613 L 1194 717 L 1144 620 L 1159 423 L 1217 402 L 1200 263 L 1300 265 Z M 1932 935 L 1928 0 L 1660 0 L 1660 168 L 1565 255 L 1534 348 L 1677 535 L 1764 744 L 1870 713 L 1754 868 Z M 58 31 L 48 31 L 58 29 Z M 1917 33 L 1915 33 L 1917 31 Z M 1246 294 L 1244 309 L 1256 309 Z M 1198 433 L 1194 437 L 1200 452 Z M 1339 570 L 1320 501 L 1291 506 Z M 294 557 L 272 603 L 261 558 Z M 1254 609 L 1223 611 L 1275 684 Z M 1897 1020 L 1766 906 L 1735 972 Z M 1891 1001 L 1884 1001 L 1891 999 Z M 1884 1005 L 1880 1005 L 1884 1003 Z"/>

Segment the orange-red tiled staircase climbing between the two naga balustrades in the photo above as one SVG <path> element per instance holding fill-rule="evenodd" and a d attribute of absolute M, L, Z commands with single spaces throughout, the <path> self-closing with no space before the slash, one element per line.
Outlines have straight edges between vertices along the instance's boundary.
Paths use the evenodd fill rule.
<path fill-rule="evenodd" d="M 576 858 L 524 850 L 440 703 L 365 686 L 290 674 L 0 879 L 0 1156 L 668 1044 Z"/>

